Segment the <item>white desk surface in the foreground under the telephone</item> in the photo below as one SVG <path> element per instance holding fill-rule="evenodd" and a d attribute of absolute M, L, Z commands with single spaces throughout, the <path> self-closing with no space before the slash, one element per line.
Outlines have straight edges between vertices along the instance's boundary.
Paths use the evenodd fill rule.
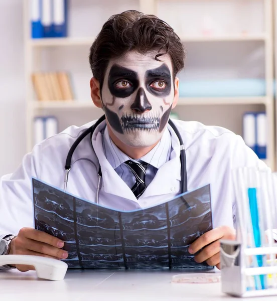
<path fill-rule="evenodd" d="M 171 283 L 180 271 L 72 271 L 62 281 L 38 279 L 36 272 L 0 272 L 0 299 L 7 301 L 221 301 L 236 300 L 221 292 L 221 283 Z M 261 298 L 245 298 L 258 301 Z M 243 300 L 243 299 L 242 299 Z M 276 301 L 276 296 L 262 300 Z"/>

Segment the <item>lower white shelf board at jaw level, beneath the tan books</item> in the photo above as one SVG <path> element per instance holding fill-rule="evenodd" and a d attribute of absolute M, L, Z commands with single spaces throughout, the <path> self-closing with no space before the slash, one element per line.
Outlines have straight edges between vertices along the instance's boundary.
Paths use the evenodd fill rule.
<path fill-rule="evenodd" d="M 266 97 L 181 97 L 178 105 L 227 105 L 227 104 L 266 104 Z M 92 100 L 49 100 L 33 101 L 35 109 L 81 109 L 96 108 Z"/>

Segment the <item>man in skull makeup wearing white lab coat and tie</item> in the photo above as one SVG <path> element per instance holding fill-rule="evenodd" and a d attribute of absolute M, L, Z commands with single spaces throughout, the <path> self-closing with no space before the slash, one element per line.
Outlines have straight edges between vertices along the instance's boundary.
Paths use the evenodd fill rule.
<path fill-rule="evenodd" d="M 72 158 L 67 191 L 96 197 L 102 170 L 99 204 L 119 210 L 149 207 L 180 192 L 180 142 L 168 125 L 177 105 L 184 67 L 183 45 L 171 27 L 155 16 L 128 11 L 111 17 L 90 49 L 91 98 L 106 120 L 86 136 Z M 0 186 L 0 234 L 11 240 L 5 254 L 66 258 L 64 243 L 33 229 L 31 178 L 63 188 L 70 147 L 92 123 L 69 127 L 27 154 Z M 197 262 L 220 267 L 219 240 L 235 238 L 236 204 L 231 170 L 266 168 L 240 136 L 199 122 L 175 121 L 185 146 L 188 190 L 211 184 L 214 229 L 190 246 Z M 93 148 L 91 147 L 93 146 Z M 143 170 L 143 179 L 136 170 Z M 9 235 L 17 235 L 16 237 Z M 12 239 L 11 239 L 12 238 Z M 8 245 L 8 243 L 7 243 Z M 17 266 L 21 271 L 32 266 Z"/>

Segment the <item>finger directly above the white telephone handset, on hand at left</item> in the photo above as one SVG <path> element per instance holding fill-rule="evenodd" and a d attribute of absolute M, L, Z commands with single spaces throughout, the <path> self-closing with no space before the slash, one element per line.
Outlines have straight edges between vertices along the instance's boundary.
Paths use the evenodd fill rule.
<path fill-rule="evenodd" d="M 44 242 L 35 241 L 29 238 L 25 238 L 26 246 L 28 246 L 28 250 L 37 252 L 42 255 L 49 255 L 54 258 L 66 259 L 68 257 L 68 253 L 60 248 L 53 247 Z"/>

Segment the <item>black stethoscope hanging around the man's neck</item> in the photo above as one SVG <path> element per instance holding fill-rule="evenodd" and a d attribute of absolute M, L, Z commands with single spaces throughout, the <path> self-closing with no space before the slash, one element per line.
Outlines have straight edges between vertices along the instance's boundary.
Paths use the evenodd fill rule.
<path fill-rule="evenodd" d="M 105 120 L 105 115 L 101 116 L 92 126 L 87 128 L 72 144 L 71 148 L 69 149 L 69 152 L 66 157 L 66 162 L 65 162 L 65 178 L 64 178 L 64 191 L 67 189 L 67 183 L 68 183 L 68 176 L 69 172 L 71 170 L 71 161 L 72 161 L 72 156 L 73 153 L 76 149 L 76 147 L 80 144 L 80 142 L 90 133 L 90 142 L 91 142 L 91 147 L 94 151 L 93 145 L 92 145 L 92 135 L 93 132 L 95 131 L 96 127 Z M 188 178 L 187 178 L 187 160 L 186 160 L 186 152 L 185 152 L 185 146 L 183 139 L 180 135 L 179 130 L 175 126 L 175 124 L 172 122 L 171 119 L 168 120 L 169 125 L 173 128 L 174 132 L 176 133 L 179 141 L 180 141 L 180 147 L 181 147 L 181 152 L 180 152 L 180 160 L 181 160 L 181 193 L 187 192 L 188 191 Z M 96 204 L 99 203 L 99 192 L 100 192 L 100 186 L 101 186 L 101 178 L 102 178 L 102 171 L 101 167 L 99 165 L 99 170 L 98 170 L 98 183 L 97 183 L 97 189 L 96 189 Z"/>

